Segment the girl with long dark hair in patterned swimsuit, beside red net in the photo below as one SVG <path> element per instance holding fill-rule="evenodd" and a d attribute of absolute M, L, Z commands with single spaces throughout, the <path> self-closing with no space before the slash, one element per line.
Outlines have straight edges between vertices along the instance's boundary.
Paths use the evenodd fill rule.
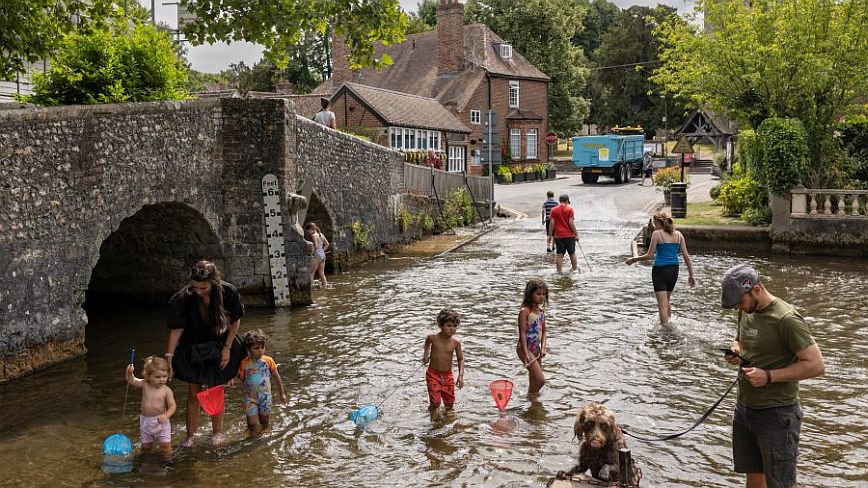
<path fill-rule="evenodd" d="M 518 313 L 518 344 L 515 352 L 527 368 L 527 395 L 535 398 L 546 384 L 542 358 L 546 355 L 546 315 L 544 305 L 549 302 L 549 288 L 545 282 L 532 278 L 524 287 L 524 300 Z"/>

